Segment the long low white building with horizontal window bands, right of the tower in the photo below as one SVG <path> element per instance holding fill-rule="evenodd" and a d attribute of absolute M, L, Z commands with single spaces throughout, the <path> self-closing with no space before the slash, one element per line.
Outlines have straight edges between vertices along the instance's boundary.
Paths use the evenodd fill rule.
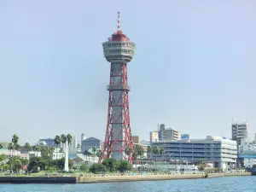
<path fill-rule="evenodd" d="M 204 159 L 214 167 L 223 169 L 236 167 L 236 142 L 222 137 L 207 136 L 205 139 L 160 141 L 152 143 L 152 147 L 154 146 L 164 148 L 164 154 L 158 158 L 165 160 L 197 162 Z"/>

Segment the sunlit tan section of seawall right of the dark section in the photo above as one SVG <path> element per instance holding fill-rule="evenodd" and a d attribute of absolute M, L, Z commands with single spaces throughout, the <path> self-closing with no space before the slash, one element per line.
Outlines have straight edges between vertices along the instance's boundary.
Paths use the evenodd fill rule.
<path fill-rule="evenodd" d="M 177 180 L 177 179 L 200 179 L 212 177 L 234 177 L 234 176 L 251 176 L 251 172 L 234 172 L 234 173 L 210 173 L 210 174 L 159 174 L 159 175 L 137 175 L 137 176 L 90 176 L 77 177 L 77 183 L 116 183 L 116 182 L 135 182 L 135 181 L 160 181 L 160 180 Z"/>

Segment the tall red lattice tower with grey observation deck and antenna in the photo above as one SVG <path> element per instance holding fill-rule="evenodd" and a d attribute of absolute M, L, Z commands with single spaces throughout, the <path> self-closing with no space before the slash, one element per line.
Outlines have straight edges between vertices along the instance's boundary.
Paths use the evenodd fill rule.
<path fill-rule="evenodd" d="M 112 157 L 115 160 L 132 162 L 133 143 L 131 141 L 131 125 L 129 113 L 130 86 L 128 85 L 127 63 L 134 54 L 135 44 L 122 32 L 119 22 L 118 29 L 108 42 L 103 43 L 104 56 L 111 62 L 110 80 L 108 85 L 108 124 L 102 146 L 102 159 Z M 130 153 L 127 152 L 130 149 Z"/>

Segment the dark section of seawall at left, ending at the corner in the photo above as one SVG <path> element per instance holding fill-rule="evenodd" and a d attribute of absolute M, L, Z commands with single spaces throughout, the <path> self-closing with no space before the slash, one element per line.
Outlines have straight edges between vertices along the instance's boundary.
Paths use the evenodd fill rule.
<path fill-rule="evenodd" d="M 0 177 L 0 183 L 77 183 L 76 177 Z"/>

